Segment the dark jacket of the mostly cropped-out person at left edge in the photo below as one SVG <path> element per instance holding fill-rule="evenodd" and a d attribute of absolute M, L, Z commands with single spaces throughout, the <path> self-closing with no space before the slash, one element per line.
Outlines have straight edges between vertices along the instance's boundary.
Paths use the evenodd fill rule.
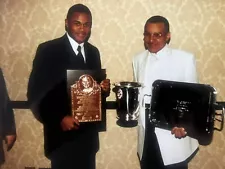
<path fill-rule="evenodd" d="M 0 69 L 0 164 L 4 162 L 2 141 L 7 135 L 16 135 L 14 114 L 10 103 L 3 73 Z"/>

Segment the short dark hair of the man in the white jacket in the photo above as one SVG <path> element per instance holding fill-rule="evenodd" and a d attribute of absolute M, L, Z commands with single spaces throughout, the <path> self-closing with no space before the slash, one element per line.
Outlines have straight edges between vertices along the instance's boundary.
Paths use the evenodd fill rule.
<path fill-rule="evenodd" d="M 169 24 L 168 20 L 163 16 L 160 16 L 160 15 L 152 16 L 151 18 L 149 18 L 146 21 L 145 28 L 146 28 L 146 25 L 149 23 L 163 23 L 164 27 L 165 27 L 165 32 L 166 33 L 170 32 L 170 24 Z"/>

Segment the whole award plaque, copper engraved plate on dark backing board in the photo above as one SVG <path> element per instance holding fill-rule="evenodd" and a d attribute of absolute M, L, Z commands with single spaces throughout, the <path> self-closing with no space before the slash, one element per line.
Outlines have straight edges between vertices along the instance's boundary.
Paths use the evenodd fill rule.
<path fill-rule="evenodd" d="M 79 122 L 102 120 L 102 94 L 99 84 L 102 78 L 105 78 L 104 71 L 100 74 L 95 71 L 67 71 L 71 113 Z"/>

